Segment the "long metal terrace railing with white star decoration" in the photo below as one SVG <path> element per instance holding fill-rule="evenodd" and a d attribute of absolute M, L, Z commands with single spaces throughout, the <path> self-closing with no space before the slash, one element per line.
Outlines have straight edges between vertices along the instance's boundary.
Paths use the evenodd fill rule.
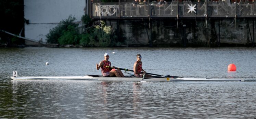
<path fill-rule="evenodd" d="M 131 17 L 256 17 L 256 2 L 175 1 L 159 5 L 157 2 L 91 3 L 92 18 Z M 191 9 L 189 9 L 191 8 Z"/>

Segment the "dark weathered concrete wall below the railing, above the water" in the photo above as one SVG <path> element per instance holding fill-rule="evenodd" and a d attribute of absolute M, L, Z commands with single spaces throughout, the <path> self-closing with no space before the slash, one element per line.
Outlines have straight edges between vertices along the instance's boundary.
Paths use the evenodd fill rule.
<path fill-rule="evenodd" d="M 247 26 L 247 20 L 250 30 Z M 124 45 L 150 45 L 171 46 L 171 47 L 218 47 L 219 36 L 220 46 L 247 46 L 251 47 L 253 23 L 252 19 L 151 19 L 151 29 L 149 20 L 125 20 L 120 21 L 117 35 L 119 41 L 125 41 Z M 109 22 L 107 22 L 109 24 Z M 220 23 L 220 35 L 219 35 Z M 116 25 L 111 21 L 112 26 Z M 183 26 L 185 25 L 185 27 Z M 149 37 L 147 35 L 147 30 Z M 184 42 L 186 41 L 186 42 Z"/>

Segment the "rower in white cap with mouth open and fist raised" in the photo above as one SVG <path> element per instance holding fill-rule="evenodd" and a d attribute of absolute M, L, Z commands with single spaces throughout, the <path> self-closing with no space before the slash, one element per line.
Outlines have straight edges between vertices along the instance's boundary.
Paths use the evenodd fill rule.
<path fill-rule="evenodd" d="M 125 77 L 123 72 L 119 69 L 117 70 L 112 70 L 115 67 L 111 67 L 111 62 L 108 61 L 109 59 L 109 54 L 105 53 L 104 54 L 104 60 L 101 61 L 99 64 L 96 64 L 96 68 L 97 70 L 99 70 L 101 68 L 101 74 L 104 77 Z"/>

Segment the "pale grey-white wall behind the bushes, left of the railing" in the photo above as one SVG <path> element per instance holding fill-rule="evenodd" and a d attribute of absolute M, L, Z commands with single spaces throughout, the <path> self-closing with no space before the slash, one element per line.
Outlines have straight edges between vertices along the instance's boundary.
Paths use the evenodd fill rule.
<path fill-rule="evenodd" d="M 25 37 L 46 42 L 49 30 L 69 15 L 81 21 L 86 0 L 24 0 Z"/>

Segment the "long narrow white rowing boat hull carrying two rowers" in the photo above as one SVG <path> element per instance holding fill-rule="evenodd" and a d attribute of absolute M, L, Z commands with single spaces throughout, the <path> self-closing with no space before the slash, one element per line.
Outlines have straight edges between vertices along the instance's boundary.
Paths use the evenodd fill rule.
<path fill-rule="evenodd" d="M 13 80 L 89 80 L 89 81 L 141 81 L 142 78 L 136 77 L 101 77 L 101 76 L 73 76 L 73 77 L 11 77 Z M 144 78 L 144 81 L 244 81 L 244 79 L 206 79 L 206 78 L 171 78 L 154 77 Z"/>

